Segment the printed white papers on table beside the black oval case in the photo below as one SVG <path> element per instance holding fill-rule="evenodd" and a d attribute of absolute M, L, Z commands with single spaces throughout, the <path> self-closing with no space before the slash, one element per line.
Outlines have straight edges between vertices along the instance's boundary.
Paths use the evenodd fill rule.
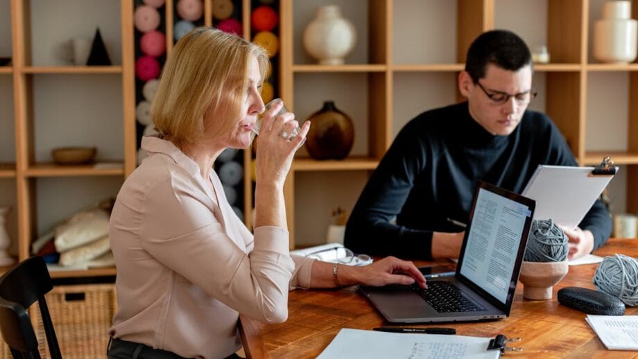
<path fill-rule="evenodd" d="M 589 326 L 610 350 L 638 350 L 637 315 L 587 315 Z"/>

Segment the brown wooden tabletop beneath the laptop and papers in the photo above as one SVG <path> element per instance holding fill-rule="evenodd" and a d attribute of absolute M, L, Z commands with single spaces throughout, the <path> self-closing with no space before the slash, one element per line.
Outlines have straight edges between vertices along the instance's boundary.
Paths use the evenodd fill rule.
<path fill-rule="evenodd" d="M 595 252 L 599 256 L 626 254 L 638 258 L 638 239 L 610 239 Z M 519 282 L 510 317 L 494 322 L 437 324 L 453 326 L 460 335 L 494 337 L 503 333 L 519 337 L 523 352 L 508 352 L 519 358 L 638 358 L 636 351 L 607 351 L 585 322 L 585 313 L 562 306 L 556 291 L 567 286 L 594 288 L 597 264 L 569 267 L 567 277 L 554 286 L 546 301 L 523 299 Z M 628 307 L 626 315 L 637 315 L 638 307 Z M 341 290 L 293 290 L 288 299 L 288 320 L 263 324 L 242 317 L 244 349 L 252 358 L 314 358 L 342 328 L 372 329 L 383 325 L 383 317 L 356 288 Z"/>

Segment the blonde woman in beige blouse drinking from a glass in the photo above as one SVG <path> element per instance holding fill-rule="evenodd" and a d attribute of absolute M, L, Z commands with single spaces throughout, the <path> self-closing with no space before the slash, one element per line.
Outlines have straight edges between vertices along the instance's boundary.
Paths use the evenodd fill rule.
<path fill-rule="evenodd" d="M 264 113 L 257 146 L 255 233 L 234 214 L 213 164 L 250 146 L 264 103 L 264 49 L 213 28 L 176 44 L 153 102 L 160 132 L 123 184 L 110 221 L 118 311 L 110 358 L 224 358 L 241 347 L 239 313 L 284 322 L 288 290 L 361 283 L 425 285 L 410 262 L 336 266 L 288 254 L 283 186 L 310 123 Z M 405 274 L 402 274 L 405 273 Z M 154 349 L 155 348 L 155 349 Z"/>

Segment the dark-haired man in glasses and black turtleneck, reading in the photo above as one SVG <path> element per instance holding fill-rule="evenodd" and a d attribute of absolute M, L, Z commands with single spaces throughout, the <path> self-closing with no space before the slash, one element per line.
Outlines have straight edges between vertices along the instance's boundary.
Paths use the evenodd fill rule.
<path fill-rule="evenodd" d="M 347 222 L 354 252 L 410 259 L 455 258 L 478 180 L 521 193 L 539 164 L 577 166 L 549 117 L 526 110 L 536 96 L 531 53 L 520 37 L 492 30 L 474 40 L 458 76 L 467 102 L 410 121 L 381 159 Z M 456 223 L 456 224 L 455 224 Z M 603 245 L 610 213 L 598 200 L 569 238 L 569 259 Z"/>

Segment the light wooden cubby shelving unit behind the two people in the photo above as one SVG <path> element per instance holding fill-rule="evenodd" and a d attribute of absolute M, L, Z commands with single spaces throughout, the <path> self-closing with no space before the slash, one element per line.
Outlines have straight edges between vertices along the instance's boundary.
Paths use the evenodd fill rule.
<path fill-rule="evenodd" d="M 32 17 L 42 7 L 51 6 L 48 2 L 3 1 L 10 3 L 12 64 L 0 67 L 0 80 L 10 79 L 11 82 L 15 158 L 1 159 L 0 179 L 3 183 L 15 183 L 16 240 L 22 260 L 28 257 L 31 242 L 42 232 L 38 229 L 42 212 L 53 211 L 38 205 L 39 200 L 46 197 L 46 191 L 39 189 L 42 181 L 123 180 L 137 166 L 133 25 L 137 2 L 109 2 L 109 6 L 118 7 L 117 15 L 109 21 L 118 24 L 119 38 L 112 45 L 117 46 L 121 60 L 111 67 L 73 67 L 39 61 L 34 51 L 37 45 L 34 39 L 38 34 Z M 213 2 L 202 1 L 204 25 L 214 25 Z M 589 32 L 603 0 L 279 0 L 274 5 L 278 6 L 280 16 L 277 27 L 280 46 L 275 58 L 278 61 L 275 66 L 278 96 L 301 121 L 318 110 L 323 100 L 335 100 L 337 107 L 350 114 L 355 123 L 355 144 L 347 159 L 315 161 L 302 148 L 293 162 L 285 187 L 291 247 L 317 244 L 325 236 L 322 231 L 329 224 L 329 210 L 336 206 L 345 207 L 347 211 L 352 208 L 348 207 L 354 204 L 365 178 L 376 168 L 402 125 L 419 112 L 462 100 L 456 91 L 456 76 L 463 70 L 467 46 L 484 30 L 501 27 L 506 22 L 500 11 L 512 6 L 511 1 L 517 6 L 544 9 L 542 19 L 532 21 L 537 25 L 533 30 L 510 26 L 525 40 L 530 38 L 529 35 L 544 34 L 543 40 L 551 53 L 549 64 L 535 65 L 535 81 L 538 78 L 542 85 L 539 88 L 542 100 L 535 105 L 555 121 L 580 164 L 596 164 L 603 155 L 612 155 L 617 164 L 626 166 L 627 184 L 623 192 L 626 208 L 623 210 L 638 212 L 638 186 L 635 186 L 638 183 L 638 63 L 597 64 L 592 60 Z M 82 3 L 81 0 L 77 2 Z M 177 16 L 173 13 L 175 3 L 175 0 L 166 0 L 163 8 L 162 24 L 169 54 L 173 47 L 172 24 Z M 259 2 L 239 0 L 236 3 L 241 6 L 244 37 L 250 40 L 251 8 Z M 301 40 L 305 24 L 314 16 L 314 8 L 329 3 L 342 7 L 344 16 L 354 22 L 359 37 L 346 64 L 335 67 L 315 64 L 304 53 Z M 61 4 L 58 6 L 69 6 L 73 0 Z M 632 5 L 633 17 L 638 18 L 638 1 L 633 1 Z M 87 9 L 91 11 L 91 6 Z M 421 17 L 423 21 L 410 20 Z M 515 17 L 519 18 L 521 14 L 517 13 Z M 428 30 L 424 23 L 428 24 Z M 72 33 L 67 34 L 67 37 L 71 36 Z M 596 128 L 596 121 L 602 121 L 588 110 L 588 101 L 597 102 L 589 98 L 594 96 L 589 91 L 596 86 L 596 78 L 592 76 L 614 74 L 628 77 L 628 87 L 618 89 L 619 94 L 628 98 L 621 106 L 627 113 L 626 118 L 621 119 L 626 123 L 623 136 L 626 134 L 627 137 L 623 140 L 627 144 L 622 148 L 592 146 L 587 134 L 596 131 L 592 130 Z M 63 167 L 42 158 L 38 146 L 46 133 L 42 134 L 44 130 L 38 130 L 38 126 L 46 120 L 39 110 L 41 83 L 78 78 L 117 79 L 119 83 L 121 100 L 112 115 L 121 128 L 116 136 L 121 142 L 121 156 L 107 159 L 119 165 Z M 248 170 L 252 166 L 250 151 L 244 151 L 243 159 L 243 210 L 245 222 L 250 226 L 253 191 L 251 171 Z M 357 180 L 351 182 L 351 176 Z M 114 269 L 55 272 L 54 275 L 112 274 Z"/>

